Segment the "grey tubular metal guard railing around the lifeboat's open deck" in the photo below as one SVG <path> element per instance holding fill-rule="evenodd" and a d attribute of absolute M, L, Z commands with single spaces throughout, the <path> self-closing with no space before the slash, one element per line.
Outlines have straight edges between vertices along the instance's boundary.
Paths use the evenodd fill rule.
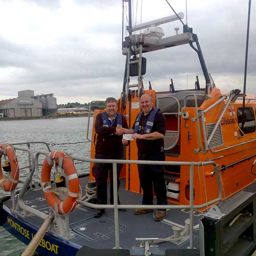
<path fill-rule="evenodd" d="M 37 143 L 37 142 L 30 142 L 30 143 Z M 17 144 L 27 144 L 27 143 L 16 143 Z M 47 143 L 44 143 L 47 144 Z M 14 145 L 14 144 L 13 144 Z M 15 150 L 21 150 L 28 152 L 30 155 L 31 164 L 25 166 L 30 168 L 30 173 L 28 178 L 26 179 L 23 188 L 19 191 L 17 205 L 13 206 L 15 212 L 18 214 L 20 212 L 22 214 L 22 210 L 26 214 L 33 214 L 40 219 L 47 219 L 48 215 L 44 214 L 44 212 L 40 212 L 37 209 L 34 209 L 24 203 L 24 195 L 26 190 L 29 188 L 32 182 L 32 178 L 34 172 L 36 172 L 39 182 L 40 182 L 40 173 L 39 173 L 39 163 L 38 158 L 39 155 L 49 155 L 49 152 L 38 151 L 34 155 L 30 148 L 20 148 L 15 147 Z M 154 164 L 154 165 L 179 165 L 179 166 L 189 166 L 189 205 L 161 205 L 162 209 L 189 209 L 189 219 L 190 219 L 190 226 L 189 226 L 189 239 L 190 239 L 190 248 L 194 248 L 194 239 L 193 239 L 193 211 L 194 209 L 201 209 L 208 207 L 211 204 L 217 203 L 222 200 L 222 188 L 221 188 L 221 179 L 219 175 L 218 165 L 214 161 L 207 161 L 207 162 L 171 162 L 171 161 L 140 161 L 140 160 L 112 160 L 112 159 L 91 159 L 91 158 L 84 158 L 80 156 L 72 156 L 73 160 L 78 160 L 81 162 L 90 162 L 90 163 L 111 163 L 113 164 L 113 190 L 114 190 L 114 204 L 113 205 L 102 205 L 102 204 L 92 204 L 89 202 L 84 202 L 82 200 L 77 200 L 78 204 L 88 206 L 91 208 L 110 208 L 114 209 L 114 223 L 115 223 L 115 248 L 120 248 L 120 241 L 119 241 L 119 216 L 118 216 L 118 209 L 134 209 L 134 208 L 150 208 L 150 209 L 158 209 L 159 205 L 118 205 L 118 196 L 117 196 L 117 164 Z M 201 205 L 194 205 L 194 166 L 205 166 L 205 165 L 213 165 L 215 177 L 217 180 L 218 185 L 218 198 L 208 201 Z M 203 174 L 205 175 L 205 174 Z M 16 206 L 16 207 L 15 207 Z M 53 209 L 54 211 L 56 209 Z M 61 218 L 57 218 L 58 214 L 55 213 L 55 223 L 61 222 Z M 59 223 L 60 234 L 63 234 L 64 237 L 69 238 L 69 216 L 66 216 L 65 225 L 63 223 Z M 62 225 L 63 224 L 63 225 Z M 63 230 L 63 226 L 65 230 Z"/>

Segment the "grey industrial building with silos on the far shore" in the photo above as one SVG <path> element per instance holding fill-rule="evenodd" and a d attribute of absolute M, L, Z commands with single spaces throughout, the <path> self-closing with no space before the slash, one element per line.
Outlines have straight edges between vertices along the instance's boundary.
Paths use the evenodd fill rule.
<path fill-rule="evenodd" d="M 25 90 L 19 91 L 17 98 L 0 100 L 0 115 L 3 117 L 40 117 L 52 114 L 57 114 L 53 94 L 35 96 L 33 90 Z"/>

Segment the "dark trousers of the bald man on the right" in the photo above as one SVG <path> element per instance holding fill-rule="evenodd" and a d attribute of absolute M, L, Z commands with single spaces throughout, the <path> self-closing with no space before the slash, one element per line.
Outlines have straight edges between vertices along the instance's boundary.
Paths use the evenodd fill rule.
<path fill-rule="evenodd" d="M 138 160 L 150 160 L 150 161 L 164 161 L 164 154 L 159 155 L 152 154 L 140 154 L 138 153 Z M 167 204 L 166 185 L 164 180 L 164 168 L 163 165 L 147 165 L 138 164 L 140 184 L 143 189 L 142 204 L 153 204 L 154 192 L 157 198 L 158 205 Z M 153 183 L 153 184 L 152 184 Z M 165 209 L 160 209 L 165 210 Z"/>

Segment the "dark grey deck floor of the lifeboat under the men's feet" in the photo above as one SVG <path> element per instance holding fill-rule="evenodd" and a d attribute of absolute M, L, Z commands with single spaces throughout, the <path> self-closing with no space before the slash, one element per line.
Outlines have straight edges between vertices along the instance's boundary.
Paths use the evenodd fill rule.
<path fill-rule="evenodd" d="M 80 178 L 80 185 L 84 187 L 89 177 Z M 109 188 L 108 188 L 109 191 Z M 109 193 L 108 193 L 109 194 Z M 142 195 L 125 190 L 125 180 L 121 179 L 119 188 L 119 198 L 122 204 L 141 204 Z M 25 204 L 49 214 L 49 204 L 45 200 L 41 189 L 29 189 L 24 196 Z M 155 200 L 154 200 L 155 201 Z M 156 202 L 154 202 L 156 203 Z M 4 203 L 11 208 L 12 202 L 8 200 Z M 86 245 L 91 248 L 105 249 L 115 247 L 115 226 L 114 209 L 106 209 L 101 218 L 94 218 L 97 209 L 80 206 L 73 210 L 69 215 L 70 228 L 74 232 L 74 237 L 69 239 L 78 247 Z M 189 218 L 189 213 L 180 209 L 167 211 L 166 218 L 161 222 L 153 219 L 153 212 L 145 215 L 134 215 L 134 209 L 119 211 L 119 233 L 120 247 L 129 249 L 131 254 L 144 255 L 144 247 L 140 246 L 140 241 L 136 238 L 167 238 L 173 235 L 172 226 L 184 226 L 184 221 Z M 200 212 L 194 218 L 194 226 L 198 223 Z M 36 227 L 40 227 L 43 220 L 36 216 L 29 216 L 25 221 Z M 194 232 L 194 244 L 199 248 L 198 228 Z M 165 250 L 169 248 L 187 248 L 189 240 L 177 245 L 171 242 L 164 242 L 151 252 L 157 255 L 166 255 Z"/>

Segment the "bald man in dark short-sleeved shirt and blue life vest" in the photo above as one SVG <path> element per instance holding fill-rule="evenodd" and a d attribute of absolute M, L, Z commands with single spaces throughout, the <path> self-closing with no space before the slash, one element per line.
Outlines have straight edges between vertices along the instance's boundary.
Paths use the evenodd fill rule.
<path fill-rule="evenodd" d="M 138 160 L 165 161 L 163 137 L 166 131 L 166 120 L 159 109 L 153 108 L 150 95 L 140 98 L 141 112 L 136 117 L 133 129 L 124 129 L 124 133 L 133 133 L 138 147 Z M 127 143 L 127 141 L 124 141 Z M 153 205 L 154 192 L 158 205 L 167 204 L 166 185 L 163 165 L 138 164 L 140 184 L 143 189 L 142 204 Z M 152 184 L 153 183 L 153 184 Z M 153 209 L 135 209 L 135 215 L 152 212 Z M 156 221 L 165 218 L 166 209 L 159 209 L 154 214 Z"/>

